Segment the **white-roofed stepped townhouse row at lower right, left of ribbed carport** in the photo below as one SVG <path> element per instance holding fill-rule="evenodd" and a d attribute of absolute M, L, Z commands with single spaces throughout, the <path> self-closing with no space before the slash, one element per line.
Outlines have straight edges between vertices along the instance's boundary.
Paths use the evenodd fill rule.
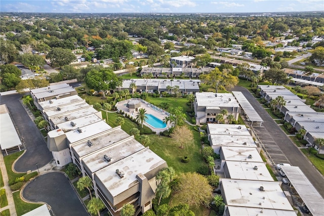
<path fill-rule="evenodd" d="M 273 181 L 245 125 L 208 124 L 214 172 L 220 178 L 223 215 L 296 215 L 281 182 Z"/>

